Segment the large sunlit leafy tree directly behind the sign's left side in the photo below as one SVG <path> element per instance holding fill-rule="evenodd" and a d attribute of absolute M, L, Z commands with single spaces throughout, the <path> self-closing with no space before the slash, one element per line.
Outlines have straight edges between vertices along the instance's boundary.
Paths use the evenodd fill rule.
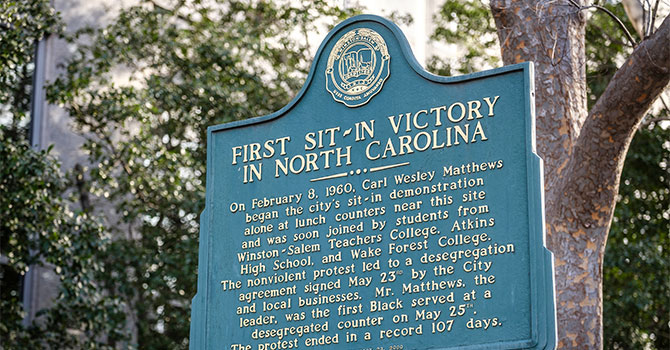
<path fill-rule="evenodd" d="M 87 191 L 116 208 L 92 208 L 115 237 L 101 289 L 128 305 L 138 348 L 188 347 L 207 127 L 285 105 L 307 33 L 348 15 L 327 1 L 143 1 L 79 33 L 49 96 L 87 138 Z"/>

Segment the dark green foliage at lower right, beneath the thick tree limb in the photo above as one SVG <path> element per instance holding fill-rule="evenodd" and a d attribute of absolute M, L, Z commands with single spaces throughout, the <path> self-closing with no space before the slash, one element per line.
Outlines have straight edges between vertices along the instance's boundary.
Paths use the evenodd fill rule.
<path fill-rule="evenodd" d="M 670 348 L 668 140 L 670 128 L 641 128 L 626 157 L 605 255 L 604 337 L 610 349 Z"/>

